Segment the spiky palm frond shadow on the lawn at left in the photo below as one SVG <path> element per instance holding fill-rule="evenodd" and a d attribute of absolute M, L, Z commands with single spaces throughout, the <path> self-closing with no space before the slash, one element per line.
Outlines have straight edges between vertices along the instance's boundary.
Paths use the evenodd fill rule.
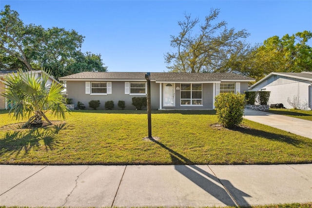
<path fill-rule="evenodd" d="M 65 124 L 59 124 L 46 128 L 8 131 L 1 139 L 0 152 L 1 154 L 10 152 L 11 155 L 19 155 L 24 150 L 24 155 L 26 155 L 31 149 L 40 148 L 40 146 L 44 146 L 46 151 L 52 150 L 57 146 L 54 141 L 55 135 L 64 128 Z"/>

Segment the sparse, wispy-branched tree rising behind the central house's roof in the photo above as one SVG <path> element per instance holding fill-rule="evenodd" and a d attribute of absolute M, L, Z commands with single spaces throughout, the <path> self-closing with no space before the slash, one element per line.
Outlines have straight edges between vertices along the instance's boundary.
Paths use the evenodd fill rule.
<path fill-rule="evenodd" d="M 172 72 L 216 72 L 222 70 L 231 54 L 237 52 L 245 44 L 249 36 L 246 30 L 228 29 L 225 21 L 216 22 L 219 10 L 211 10 L 205 22 L 191 19 L 185 15 L 184 21 L 178 21 L 181 32 L 171 36 L 170 45 L 176 52 L 165 54 L 167 68 Z M 197 33 L 193 34 L 199 26 Z"/>

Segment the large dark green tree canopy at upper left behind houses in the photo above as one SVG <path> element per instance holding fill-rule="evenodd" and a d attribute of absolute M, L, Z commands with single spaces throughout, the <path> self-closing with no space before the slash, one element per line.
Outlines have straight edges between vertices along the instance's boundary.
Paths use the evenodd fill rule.
<path fill-rule="evenodd" d="M 100 55 L 81 52 L 84 37 L 75 30 L 25 25 L 9 5 L 0 15 L 0 69 L 45 68 L 56 79 L 80 71 L 106 71 Z"/>

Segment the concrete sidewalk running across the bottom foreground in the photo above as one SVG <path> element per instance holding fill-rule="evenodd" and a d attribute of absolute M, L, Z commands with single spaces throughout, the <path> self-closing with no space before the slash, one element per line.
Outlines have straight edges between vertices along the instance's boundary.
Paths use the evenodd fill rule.
<path fill-rule="evenodd" d="M 312 201 L 312 164 L 0 165 L 0 205 L 204 207 Z"/>

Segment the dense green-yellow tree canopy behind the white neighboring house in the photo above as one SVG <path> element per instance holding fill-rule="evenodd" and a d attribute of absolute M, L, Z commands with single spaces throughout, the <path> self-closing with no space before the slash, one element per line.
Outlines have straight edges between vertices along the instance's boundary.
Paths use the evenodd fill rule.
<path fill-rule="evenodd" d="M 311 38 L 312 33 L 306 30 L 282 38 L 273 36 L 261 45 L 246 47 L 231 55 L 224 71 L 257 81 L 271 72 L 312 71 L 312 47 L 307 44 Z"/>

